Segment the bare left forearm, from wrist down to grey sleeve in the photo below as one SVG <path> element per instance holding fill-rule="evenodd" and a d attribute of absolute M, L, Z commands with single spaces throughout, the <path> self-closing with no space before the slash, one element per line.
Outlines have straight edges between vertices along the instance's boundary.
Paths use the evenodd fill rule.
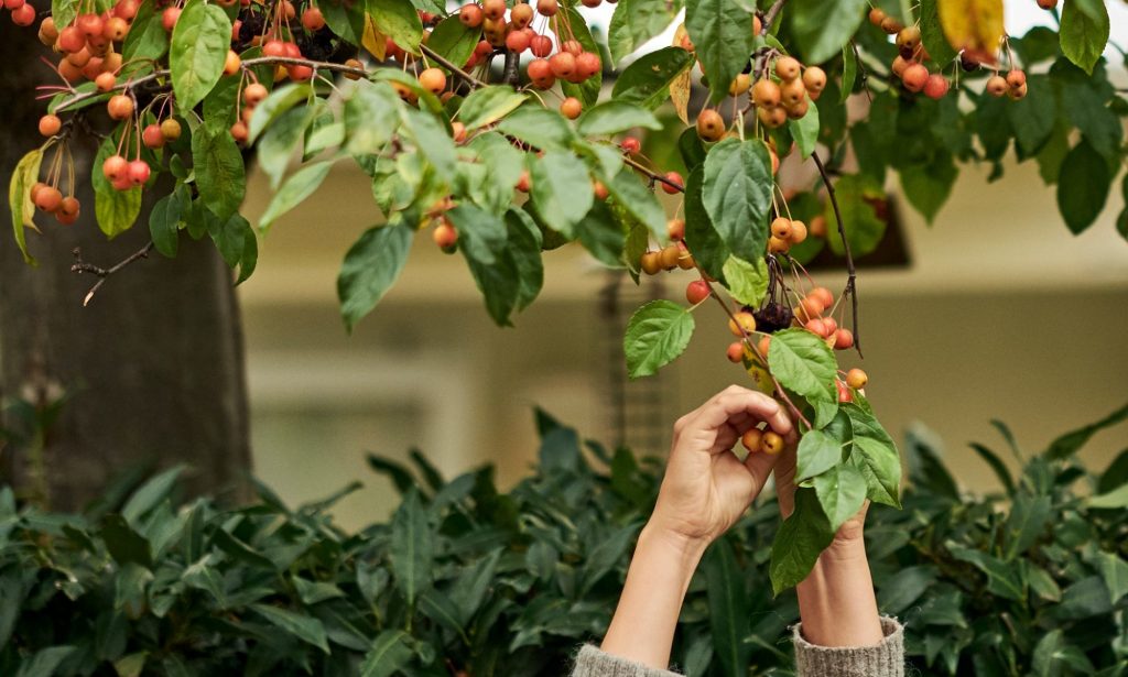
<path fill-rule="evenodd" d="M 647 525 L 638 536 L 623 595 L 601 649 L 644 666 L 666 669 L 678 615 L 704 544 Z"/>

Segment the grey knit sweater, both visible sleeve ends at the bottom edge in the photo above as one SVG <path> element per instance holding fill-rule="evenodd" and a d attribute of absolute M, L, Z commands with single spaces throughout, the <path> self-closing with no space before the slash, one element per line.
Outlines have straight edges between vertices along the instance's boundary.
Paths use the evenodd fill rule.
<path fill-rule="evenodd" d="M 905 632 L 896 618 L 883 617 L 885 638 L 875 647 L 830 649 L 816 647 L 795 625 L 795 668 L 797 677 L 904 677 Z M 580 650 L 572 677 L 677 677 L 669 670 L 655 670 L 603 653 L 591 644 Z"/>

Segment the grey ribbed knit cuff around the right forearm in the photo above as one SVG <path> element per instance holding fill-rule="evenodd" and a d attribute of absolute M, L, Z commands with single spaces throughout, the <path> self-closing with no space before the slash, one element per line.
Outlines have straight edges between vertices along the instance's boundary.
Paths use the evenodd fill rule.
<path fill-rule="evenodd" d="M 904 677 L 905 629 L 882 617 L 885 639 L 873 647 L 817 647 L 803 639 L 802 623 L 792 629 L 799 677 Z"/>

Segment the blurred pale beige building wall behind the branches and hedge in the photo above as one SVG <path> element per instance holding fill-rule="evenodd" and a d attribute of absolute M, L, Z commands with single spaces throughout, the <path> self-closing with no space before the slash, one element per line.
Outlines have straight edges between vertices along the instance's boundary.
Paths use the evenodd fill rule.
<path fill-rule="evenodd" d="M 254 177 L 248 213 L 267 199 Z M 1038 449 L 1128 400 L 1128 243 L 1113 229 L 1121 205 L 1111 198 L 1100 222 L 1074 238 L 1036 168 L 1012 167 L 990 185 L 986 168 L 967 169 L 932 228 L 904 210 L 913 265 L 863 269 L 860 282 L 870 395 L 896 437 L 924 421 L 946 440 L 959 481 L 989 489 L 994 476 L 966 443 L 1003 452 L 990 418 Z M 261 476 L 293 501 L 364 481 L 338 511 L 359 526 L 395 505 L 389 486 L 365 470 L 365 449 L 404 456 L 414 442 L 451 473 L 493 461 L 508 484 L 535 458 L 532 403 L 606 439 L 606 278 L 597 266 L 576 249 L 548 253 L 543 299 L 515 329 L 497 329 L 461 257 L 421 237 L 400 283 L 350 338 L 335 277 L 347 246 L 378 220 L 367 179 L 334 170 L 274 225 L 259 270 L 241 287 Z M 680 299 L 688 279 L 662 276 L 668 297 Z M 719 311 L 702 308 L 698 323 L 663 377 L 660 442 L 642 451 L 664 453 L 676 416 L 741 382 L 723 358 L 730 338 Z M 1121 425 L 1086 460 L 1103 466 L 1126 447 Z"/>

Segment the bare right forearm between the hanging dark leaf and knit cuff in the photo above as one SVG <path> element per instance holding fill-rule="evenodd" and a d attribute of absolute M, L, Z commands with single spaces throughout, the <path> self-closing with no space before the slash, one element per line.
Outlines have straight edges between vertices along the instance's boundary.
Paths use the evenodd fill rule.
<path fill-rule="evenodd" d="M 836 542 L 796 588 L 803 638 L 820 647 L 872 647 L 884 636 L 861 538 Z"/>

